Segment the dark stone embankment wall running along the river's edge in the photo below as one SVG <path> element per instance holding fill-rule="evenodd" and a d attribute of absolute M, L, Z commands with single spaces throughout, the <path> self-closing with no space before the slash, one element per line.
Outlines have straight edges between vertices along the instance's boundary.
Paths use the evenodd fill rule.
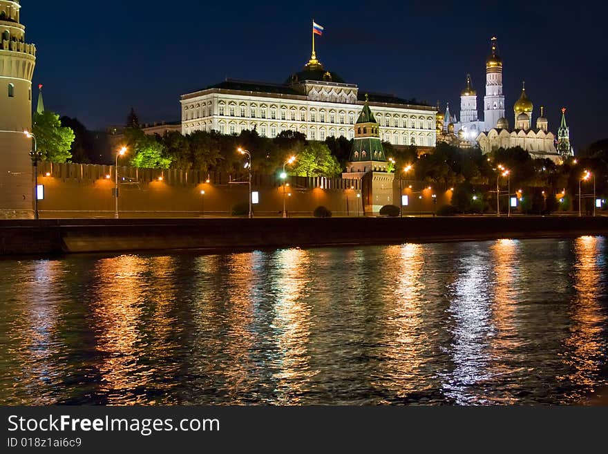
<path fill-rule="evenodd" d="M 0 256 L 608 235 L 608 217 L 1 220 Z"/>

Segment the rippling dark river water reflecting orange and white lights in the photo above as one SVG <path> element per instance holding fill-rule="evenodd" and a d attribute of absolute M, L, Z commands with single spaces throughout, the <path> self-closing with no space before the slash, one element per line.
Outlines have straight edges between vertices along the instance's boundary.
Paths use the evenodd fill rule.
<path fill-rule="evenodd" d="M 0 404 L 578 404 L 607 240 L 1 261 Z"/>

